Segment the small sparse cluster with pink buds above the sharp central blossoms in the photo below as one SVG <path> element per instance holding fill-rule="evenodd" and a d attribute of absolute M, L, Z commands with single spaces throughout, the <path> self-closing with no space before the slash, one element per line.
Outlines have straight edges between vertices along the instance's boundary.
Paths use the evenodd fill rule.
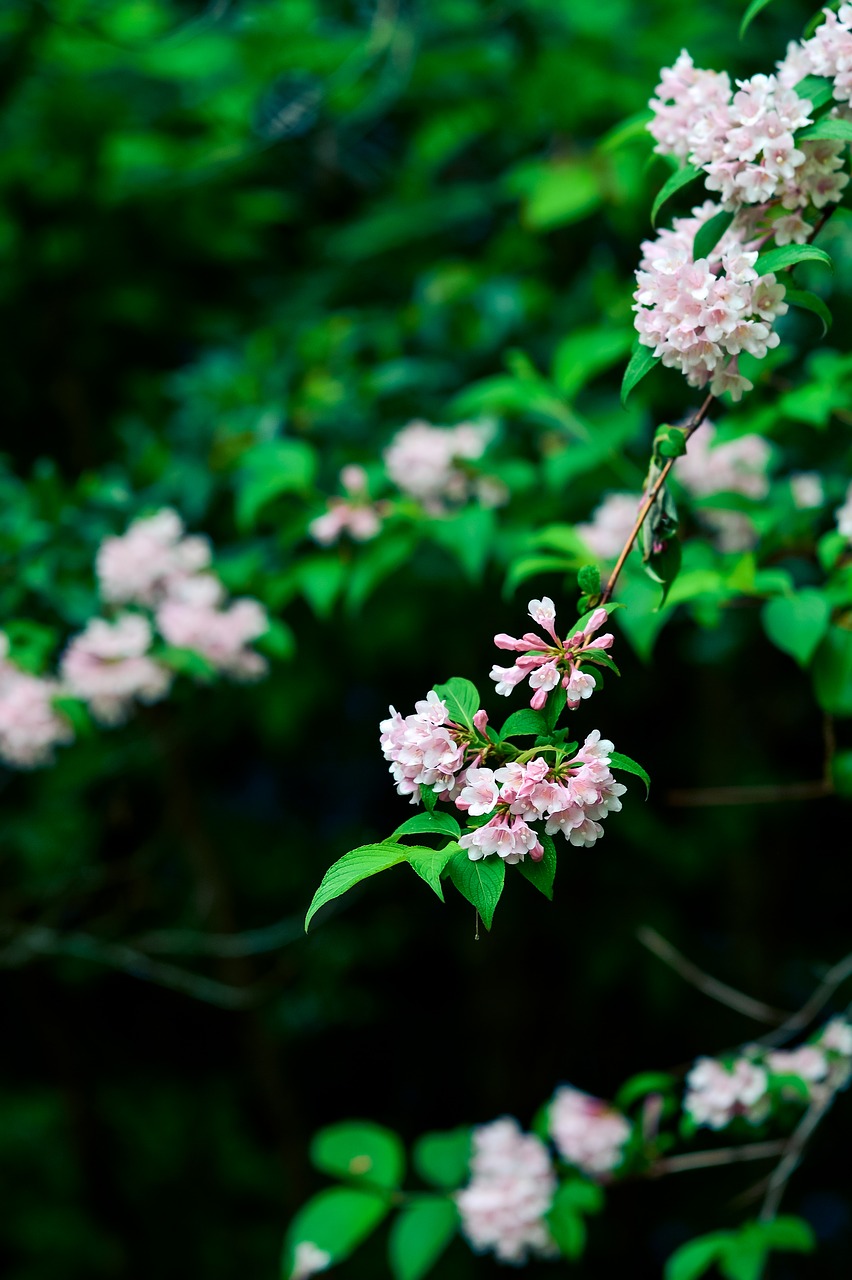
<path fill-rule="evenodd" d="M 611 632 L 592 639 L 606 621 L 606 609 L 595 609 L 582 631 L 576 631 L 567 640 L 560 640 L 555 631 L 556 609 L 553 600 L 545 595 L 542 600 L 530 600 L 530 617 L 550 636 L 545 640 L 535 631 L 527 631 L 519 640 L 500 632 L 494 637 L 498 649 L 522 653 L 512 667 L 491 668 L 491 680 L 496 682 L 496 692 L 508 698 L 516 685 L 528 680 L 535 690 L 530 705 L 541 710 L 548 695 L 558 685 L 565 690 L 567 705 L 573 710 L 583 698 L 595 691 L 595 677 L 582 669 L 583 662 L 600 662 L 604 649 L 613 643 Z M 604 664 L 609 666 L 606 660 Z"/>

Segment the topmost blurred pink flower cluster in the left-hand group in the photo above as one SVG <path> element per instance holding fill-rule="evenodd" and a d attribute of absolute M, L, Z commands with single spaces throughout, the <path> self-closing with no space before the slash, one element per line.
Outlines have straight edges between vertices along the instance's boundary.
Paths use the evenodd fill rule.
<path fill-rule="evenodd" d="M 171 584 L 210 564 L 206 538 L 187 538 L 175 511 L 136 520 L 122 538 L 97 552 L 101 595 L 111 604 L 157 604 Z"/>

